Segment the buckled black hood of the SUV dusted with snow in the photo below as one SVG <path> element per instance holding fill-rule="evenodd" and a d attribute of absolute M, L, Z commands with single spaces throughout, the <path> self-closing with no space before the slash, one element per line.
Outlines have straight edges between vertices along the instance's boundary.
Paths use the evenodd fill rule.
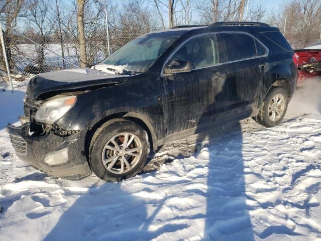
<path fill-rule="evenodd" d="M 88 68 L 60 70 L 34 76 L 29 81 L 27 94 L 28 98 L 35 100 L 44 93 L 100 88 L 123 83 L 128 79 L 128 75 L 108 74 Z"/>

